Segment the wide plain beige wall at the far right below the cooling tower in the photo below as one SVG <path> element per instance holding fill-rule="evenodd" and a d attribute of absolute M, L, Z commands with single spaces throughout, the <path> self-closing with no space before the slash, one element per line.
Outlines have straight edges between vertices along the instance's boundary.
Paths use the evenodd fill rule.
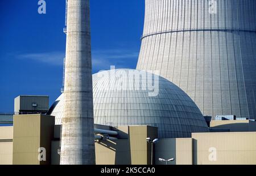
<path fill-rule="evenodd" d="M 192 138 L 194 164 L 256 164 L 256 132 L 195 133 Z"/>

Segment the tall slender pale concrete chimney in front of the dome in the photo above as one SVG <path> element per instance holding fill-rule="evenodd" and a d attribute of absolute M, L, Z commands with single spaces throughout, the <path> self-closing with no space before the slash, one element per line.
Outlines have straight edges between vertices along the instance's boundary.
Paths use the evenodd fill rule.
<path fill-rule="evenodd" d="M 89 0 L 68 0 L 61 165 L 95 164 Z"/>

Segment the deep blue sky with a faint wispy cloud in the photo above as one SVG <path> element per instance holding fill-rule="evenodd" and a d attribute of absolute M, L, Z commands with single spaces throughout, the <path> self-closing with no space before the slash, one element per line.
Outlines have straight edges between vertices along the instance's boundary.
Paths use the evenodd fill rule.
<path fill-rule="evenodd" d="M 19 95 L 60 95 L 65 56 L 65 0 L 0 1 L 0 113 Z M 143 31 L 143 0 L 91 0 L 93 73 L 135 68 Z"/>

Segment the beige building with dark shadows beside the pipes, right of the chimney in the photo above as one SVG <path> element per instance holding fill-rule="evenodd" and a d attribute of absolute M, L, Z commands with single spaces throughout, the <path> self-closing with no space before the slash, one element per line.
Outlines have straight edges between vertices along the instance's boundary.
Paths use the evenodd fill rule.
<path fill-rule="evenodd" d="M 151 145 L 147 144 L 146 138 L 157 138 L 157 128 L 148 126 L 123 126 L 118 127 L 118 130 L 123 130 L 123 136 L 128 134 L 128 139 L 106 140 L 95 143 L 96 164 L 151 164 Z"/>

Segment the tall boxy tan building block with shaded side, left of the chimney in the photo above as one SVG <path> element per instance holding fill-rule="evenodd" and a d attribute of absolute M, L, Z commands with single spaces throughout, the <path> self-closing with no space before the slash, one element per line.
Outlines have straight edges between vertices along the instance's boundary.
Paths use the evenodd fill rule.
<path fill-rule="evenodd" d="M 54 123 L 54 117 L 48 115 L 14 115 L 14 165 L 51 164 Z M 38 160 L 40 147 L 46 148 L 46 161 Z"/>

